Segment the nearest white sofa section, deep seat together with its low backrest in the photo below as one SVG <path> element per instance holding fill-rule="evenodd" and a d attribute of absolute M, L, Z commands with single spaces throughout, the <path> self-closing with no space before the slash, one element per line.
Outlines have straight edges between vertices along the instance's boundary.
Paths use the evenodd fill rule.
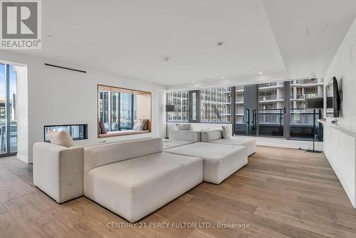
<path fill-rule="evenodd" d="M 162 139 L 84 148 L 84 195 L 130 222 L 203 180 L 203 160 L 163 152 Z"/>

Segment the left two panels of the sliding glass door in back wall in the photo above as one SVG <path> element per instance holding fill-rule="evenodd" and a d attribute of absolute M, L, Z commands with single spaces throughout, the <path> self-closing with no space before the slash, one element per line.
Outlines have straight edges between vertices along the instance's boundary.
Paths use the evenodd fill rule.
<path fill-rule="evenodd" d="M 287 83 L 236 87 L 235 134 L 286 138 Z"/>

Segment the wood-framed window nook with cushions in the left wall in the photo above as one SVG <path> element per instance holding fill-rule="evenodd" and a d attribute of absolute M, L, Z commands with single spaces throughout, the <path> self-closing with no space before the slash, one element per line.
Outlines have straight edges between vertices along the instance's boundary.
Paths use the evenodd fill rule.
<path fill-rule="evenodd" d="M 142 131 L 151 128 L 151 93 L 125 88 L 98 86 L 98 131 L 103 134 L 126 135 L 140 133 L 137 120 L 147 120 Z M 100 128 L 103 127 L 103 128 Z M 132 130 L 134 130 L 132 132 Z M 123 133 L 119 133 L 123 132 Z"/>

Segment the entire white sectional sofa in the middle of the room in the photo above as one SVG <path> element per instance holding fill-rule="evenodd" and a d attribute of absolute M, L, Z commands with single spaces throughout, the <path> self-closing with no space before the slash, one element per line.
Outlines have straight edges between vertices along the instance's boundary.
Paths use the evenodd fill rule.
<path fill-rule="evenodd" d="M 256 150 L 254 140 L 222 139 L 221 130 L 169 135 L 164 143 L 159 138 L 70 148 L 35 143 L 33 183 L 58 203 L 85 195 L 137 222 L 203 180 L 219 184 Z"/>

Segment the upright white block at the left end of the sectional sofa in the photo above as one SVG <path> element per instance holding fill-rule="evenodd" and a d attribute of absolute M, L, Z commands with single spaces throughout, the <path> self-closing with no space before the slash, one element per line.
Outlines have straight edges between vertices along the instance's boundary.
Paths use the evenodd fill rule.
<path fill-rule="evenodd" d="M 83 146 L 34 143 L 33 184 L 58 203 L 83 196 Z"/>

